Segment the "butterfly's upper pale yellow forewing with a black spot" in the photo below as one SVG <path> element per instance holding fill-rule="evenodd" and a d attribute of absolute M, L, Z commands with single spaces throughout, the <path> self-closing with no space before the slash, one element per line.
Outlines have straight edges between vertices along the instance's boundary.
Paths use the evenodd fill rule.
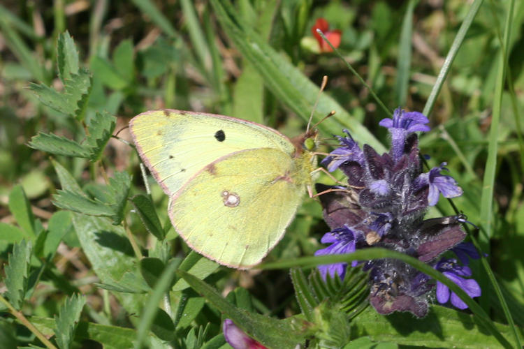
<path fill-rule="evenodd" d="M 140 158 L 168 195 L 205 165 L 235 151 L 294 151 L 289 139 L 272 128 L 222 115 L 155 110 L 138 114 L 129 128 Z"/>

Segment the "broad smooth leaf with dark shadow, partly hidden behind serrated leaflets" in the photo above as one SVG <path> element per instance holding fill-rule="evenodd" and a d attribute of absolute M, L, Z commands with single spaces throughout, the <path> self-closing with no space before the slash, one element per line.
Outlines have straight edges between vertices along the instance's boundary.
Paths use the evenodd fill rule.
<path fill-rule="evenodd" d="M 71 174 L 57 161 L 52 163 L 62 188 L 80 191 L 80 186 Z M 82 251 L 101 283 L 120 280 L 126 272 L 136 269 L 133 248 L 122 226 L 112 225 L 105 218 L 85 214 L 72 213 L 71 216 Z M 115 293 L 115 297 L 128 313 L 139 313 L 145 302 L 145 297 L 138 293 Z"/>

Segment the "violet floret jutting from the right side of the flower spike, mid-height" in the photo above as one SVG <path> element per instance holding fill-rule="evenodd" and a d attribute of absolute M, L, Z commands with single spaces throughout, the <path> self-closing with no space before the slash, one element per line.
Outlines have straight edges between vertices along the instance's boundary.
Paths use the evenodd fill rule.
<path fill-rule="evenodd" d="M 439 193 L 442 193 L 444 198 L 456 198 L 463 194 L 462 188 L 458 186 L 453 177 L 440 174 L 446 163 L 441 163 L 439 167 L 432 168 L 428 173 L 422 173 L 414 181 L 414 186 L 423 187 L 428 185 L 428 205 L 435 206 L 439 201 Z"/>

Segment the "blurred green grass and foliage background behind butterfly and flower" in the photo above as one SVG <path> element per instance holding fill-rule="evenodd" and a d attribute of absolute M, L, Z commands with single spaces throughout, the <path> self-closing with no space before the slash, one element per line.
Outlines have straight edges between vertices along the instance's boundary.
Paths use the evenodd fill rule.
<path fill-rule="evenodd" d="M 292 137 L 305 130 L 321 79 L 328 75 L 314 120 L 333 109 L 337 114 L 320 126 L 325 139 L 322 150 L 330 151 L 336 144 L 333 135 L 341 134 L 342 128 L 349 128 L 360 144 L 386 149 L 387 132 L 377 123 L 388 113 L 340 57 L 319 52 L 311 29 L 316 19 L 323 17 L 330 30 L 342 32 L 342 57 L 390 112 L 398 106 L 430 112 L 432 131 L 421 136 L 421 151 L 431 156 L 430 165 L 448 162 L 451 175 L 463 187 L 463 197 L 453 202 L 469 221 L 482 228 L 475 232 L 476 237 L 489 255 L 516 322 L 524 325 L 524 2 L 517 1 L 514 6 L 509 45 L 504 47 L 507 78 L 501 77 L 500 55 L 510 1 L 484 1 L 474 19 L 470 11 L 482 1 L 240 0 L 225 10 L 219 10 L 218 1 L 214 2 L 1 3 L 2 259 L 7 260 L 13 242 L 11 228 L 7 227 L 23 224 L 8 207 L 13 186 L 22 185 L 43 228 L 48 228 L 57 211 L 52 195 L 61 186 L 50 156 L 28 147 L 29 140 L 45 132 L 81 144 L 85 122 L 97 111 L 117 117 L 116 131 L 140 112 L 175 108 L 249 119 Z M 435 104 L 428 105 L 446 54 L 458 37 L 460 25 L 468 19 L 473 22 L 449 75 Z M 77 119 L 43 105 L 29 89 L 29 83 L 35 82 L 64 91 L 57 77 L 57 37 L 64 31 L 76 44 L 81 66 L 92 73 L 85 114 Z M 490 134 L 494 115 L 495 135 Z M 127 130 L 118 136 L 130 140 Z M 496 155 L 496 162 L 488 158 L 490 144 L 496 146 L 490 153 Z M 99 168 L 104 168 L 109 177 L 115 171 L 133 174 L 131 191 L 144 191 L 138 157 L 121 140 L 110 140 L 96 164 L 82 158 L 54 158 L 81 186 L 103 183 Z M 492 192 L 486 191 L 490 178 Z M 328 179 L 321 177 L 319 181 Z M 166 222 L 167 198 L 154 181 L 151 186 L 161 222 Z M 127 211 L 126 220 L 140 246 L 150 247 L 154 244 L 152 237 L 138 218 L 129 214 L 129 208 Z M 444 200 L 430 211 L 434 216 L 450 214 L 453 209 Z M 306 200 L 269 260 L 312 255 L 321 248 L 319 239 L 327 231 L 319 205 Z M 170 234 L 175 236 L 173 230 Z M 104 297 L 109 296 L 92 284 L 96 281 L 92 260 L 82 250 L 74 229 L 63 236 L 54 255 L 53 272 L 44 274 L 42 289 L 31 298 L 32 313 L 52 316 L 63 295 L 73 288 L 89 295 L 93 319 L 105 313 L 112 317 L 111 322 L 126 323 L 119 305 L 108 303 Z M 170 248 L 173 254 L 188 251 L 180 239 L 175 239 Z M 476 265 L 474 274 L 481 274 L 481 270 Z M 222 290 L 236 285 L 247 288 L 259 302 L 259 311 L 281 317 L 297 312 L 285 270 L 224 269 L 215 274 L 214 282 Z M 482 302 L 493 318 L 504 322 L 493 290 L 486 289 Z M 112 306 L 109 311 L 103 309 L 108 304 Z"/>

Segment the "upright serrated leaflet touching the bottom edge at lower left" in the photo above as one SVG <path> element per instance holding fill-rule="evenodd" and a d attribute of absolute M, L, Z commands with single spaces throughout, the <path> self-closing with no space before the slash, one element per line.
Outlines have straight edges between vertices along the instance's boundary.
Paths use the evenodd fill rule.
<path fill-rule="evenodd" d="M 54 334 L 61 349 L 68 349 L 73 341 L 85 302 L 86 299 L 82 295 L 67 297 L 66 302 L 60 306 L 58 316 L 54 315 L 54 322 L 57 324 Z"/>

